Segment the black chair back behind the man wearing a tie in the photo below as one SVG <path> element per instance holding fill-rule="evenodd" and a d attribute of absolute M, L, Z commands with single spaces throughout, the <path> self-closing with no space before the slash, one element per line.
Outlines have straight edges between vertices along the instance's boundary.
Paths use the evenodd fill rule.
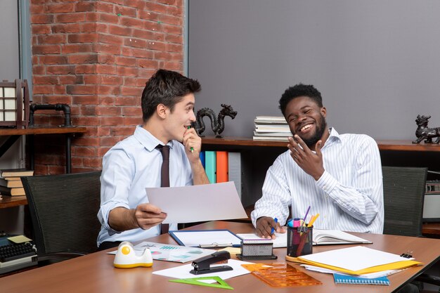
<path fill-rule="evenodd" d="M 101 171 L 22 177 L 38 263 L 96 252 Z"/>

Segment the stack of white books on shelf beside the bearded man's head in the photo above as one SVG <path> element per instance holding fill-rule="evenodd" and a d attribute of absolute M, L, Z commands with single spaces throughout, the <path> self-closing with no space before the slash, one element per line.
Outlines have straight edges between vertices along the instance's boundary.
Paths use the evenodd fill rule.
<path fill-rule="evenodd" d="M 254 141 L 287 141 L 292 136 L 283 116 L 257 116 L 254 124 Z"/>

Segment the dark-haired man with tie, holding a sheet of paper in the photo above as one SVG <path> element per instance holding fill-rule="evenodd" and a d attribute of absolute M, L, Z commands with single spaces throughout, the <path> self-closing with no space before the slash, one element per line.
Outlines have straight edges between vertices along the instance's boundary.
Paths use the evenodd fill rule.
<path fill-rule="evenodd" d="M 169 186 L 209 183 L 199 157 L 202 140 L 189 127 L 198 91 L 197 80 L 169 70 L 157 70 L 146 83 L 143 124 L 103 157 L 100 249 L 160 234 L 167 214 L 148 203 L 145 188 L 161 186 L 161 149 L 169 148 Z"/>

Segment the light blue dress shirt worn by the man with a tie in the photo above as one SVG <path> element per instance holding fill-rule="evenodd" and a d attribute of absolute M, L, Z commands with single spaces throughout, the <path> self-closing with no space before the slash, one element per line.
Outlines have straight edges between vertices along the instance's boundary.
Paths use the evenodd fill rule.
<path fill-rule="evenodd" d="M 145 188 L 160 187 L 162 154 L 155 149 L 162 143 L 141 125 L 134 134 L 113 146 L 103 157 L 101 175 L 101 209 L 98 219 L 101 231 L 98 246 L 105 241 L 136 242 L 160 235 L 160 225 L 148 230 L 141 228 L 117 232 L 108 225 L 108 215 L 115 207 L 135 209 L 138 204 L 147 203 Z M 178 141 L 170 141 L 169 185 L 185 186 L 193 184 L 193 174 L 185 148 Z M 169 230 L 177 230 L 171 224 Z"/>

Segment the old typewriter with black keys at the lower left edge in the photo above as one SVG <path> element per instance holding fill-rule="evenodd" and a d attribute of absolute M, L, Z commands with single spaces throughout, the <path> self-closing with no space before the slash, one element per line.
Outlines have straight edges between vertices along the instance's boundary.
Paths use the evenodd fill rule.
<path fill-rule="evenodd" d="M 32 242 L 14 243 L 12 235 L 0 235 L 0 274 L 36 266 L 37 251 Z"/>

